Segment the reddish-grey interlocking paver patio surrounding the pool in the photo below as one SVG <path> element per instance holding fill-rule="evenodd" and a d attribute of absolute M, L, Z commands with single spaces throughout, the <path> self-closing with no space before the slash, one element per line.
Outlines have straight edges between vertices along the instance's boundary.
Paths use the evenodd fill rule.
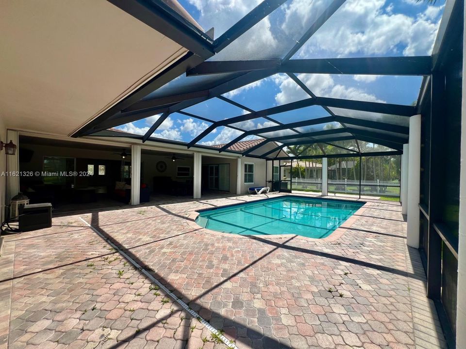
<path fill-rule="evenodd" d="M 221 234 L 190 218 L 260 198 L 75 212 L 6 237 L 0 348 L 226 348 L 80 218 L 238 348 L 446 348 L 399 203 L 366 204 L 334 241 Z"/>

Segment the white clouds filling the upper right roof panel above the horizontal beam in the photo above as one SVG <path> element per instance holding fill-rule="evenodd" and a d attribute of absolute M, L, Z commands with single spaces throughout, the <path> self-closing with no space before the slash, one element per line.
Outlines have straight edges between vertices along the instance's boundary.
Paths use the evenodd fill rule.
<path fill-rule="evenodd" d="M 430 54 L 438 28 L 435 8 L 417 17 L 384 9 L 385 0 L 348 0 L 300 51 L 313 57 L 321 50 L 349 54 Z M 432 7 L 432 6 L 431 6 Z M 321 53 L 321 52 L 320 52 Z"/>

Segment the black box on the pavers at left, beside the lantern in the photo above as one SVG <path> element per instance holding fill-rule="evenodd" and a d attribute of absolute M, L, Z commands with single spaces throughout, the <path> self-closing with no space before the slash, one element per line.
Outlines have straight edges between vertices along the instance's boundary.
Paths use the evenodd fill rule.
<path fill-rule="evenodd" d="M 22 232 L 50 228 L 52 204 L 31 204 L 19 207 L 18 228 Z"/>

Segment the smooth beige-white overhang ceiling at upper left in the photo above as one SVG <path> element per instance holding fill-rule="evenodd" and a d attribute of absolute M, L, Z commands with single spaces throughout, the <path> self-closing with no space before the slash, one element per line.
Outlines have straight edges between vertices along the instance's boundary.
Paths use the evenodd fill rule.
<path fill-rule="evenodd" d="M 69 135 L 187 50 L 106 0 L 0 1 L 0 118 Z"/>

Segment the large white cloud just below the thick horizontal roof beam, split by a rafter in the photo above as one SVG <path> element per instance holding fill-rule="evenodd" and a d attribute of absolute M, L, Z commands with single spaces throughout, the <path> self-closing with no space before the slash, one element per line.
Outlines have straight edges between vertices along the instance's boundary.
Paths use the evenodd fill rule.
<path fill-rule="evenodd" d="M 317 96 L 385 103 L 362 89 L 335 83 L 329 74 L 300 74 L 298 78 Z M 291 78 L 282 80 L 279 87 L 280 92 L 275 95 L 279 105 L 309 98 Z"/>

